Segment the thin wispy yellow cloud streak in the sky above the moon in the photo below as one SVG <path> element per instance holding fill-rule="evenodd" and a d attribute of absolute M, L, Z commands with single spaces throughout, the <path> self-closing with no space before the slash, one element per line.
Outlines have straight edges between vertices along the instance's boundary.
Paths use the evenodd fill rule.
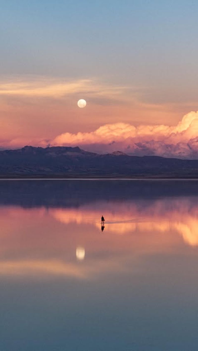
<path fill-rule="evenodd" d="M 60 99 L 72 94 L 88 94 L 92 99 L 118 98 L 128 88 L 105 84 L 97 79 L 65 80 L 49 77 L 15 77 L 0 80 L 0 96 Z"/>

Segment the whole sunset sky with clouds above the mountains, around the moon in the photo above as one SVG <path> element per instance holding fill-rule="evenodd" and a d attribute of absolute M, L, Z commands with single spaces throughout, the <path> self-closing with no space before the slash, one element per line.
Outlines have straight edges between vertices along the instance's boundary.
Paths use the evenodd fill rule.
<path fill-rule="evenodd" d="M 1 148 L 198 158 L 197 1 L 0 4 Z"/>

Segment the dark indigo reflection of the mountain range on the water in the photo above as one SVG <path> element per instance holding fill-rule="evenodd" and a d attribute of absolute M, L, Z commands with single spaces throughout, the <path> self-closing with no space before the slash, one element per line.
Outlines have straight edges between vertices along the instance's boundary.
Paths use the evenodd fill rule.
<path fill-rule="evenodd" d="M 198 180 L 0 180 L 0 205 L 27 208 L 174 196 L 198 196 Z"/>

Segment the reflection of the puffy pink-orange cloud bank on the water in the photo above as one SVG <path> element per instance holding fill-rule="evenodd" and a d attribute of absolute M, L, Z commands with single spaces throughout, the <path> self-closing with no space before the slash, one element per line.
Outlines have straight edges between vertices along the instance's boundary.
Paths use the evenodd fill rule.
<path fill-rule="evenodd" d="M 194 200 L 194 201 L 193 201 Z M 79 209 L 50 210 L 61 223 L 92 224 L 101 228 L 101 209 L 105 212 L 106 229 L 115 234 L 131 232 L 177 231 L 184 241 L 198 245 L 198 206 L 196 199 L 160 199 L 123 203 L 99 202 L 96 209 L 81 206 Z"/>

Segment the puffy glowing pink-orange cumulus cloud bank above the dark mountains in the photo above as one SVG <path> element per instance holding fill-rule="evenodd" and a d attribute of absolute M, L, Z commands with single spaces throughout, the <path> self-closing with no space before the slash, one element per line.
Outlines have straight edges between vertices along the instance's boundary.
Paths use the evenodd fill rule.
<path fill-rule="evenodd" d="M 78 145 L 84 150 L 104 153 L 120 150 L 131 155 L 196 159 L 198 111 L 187 113 L 176 126 L 106 124 L 93 132 L 63 133 L 51 145 Z"/>

